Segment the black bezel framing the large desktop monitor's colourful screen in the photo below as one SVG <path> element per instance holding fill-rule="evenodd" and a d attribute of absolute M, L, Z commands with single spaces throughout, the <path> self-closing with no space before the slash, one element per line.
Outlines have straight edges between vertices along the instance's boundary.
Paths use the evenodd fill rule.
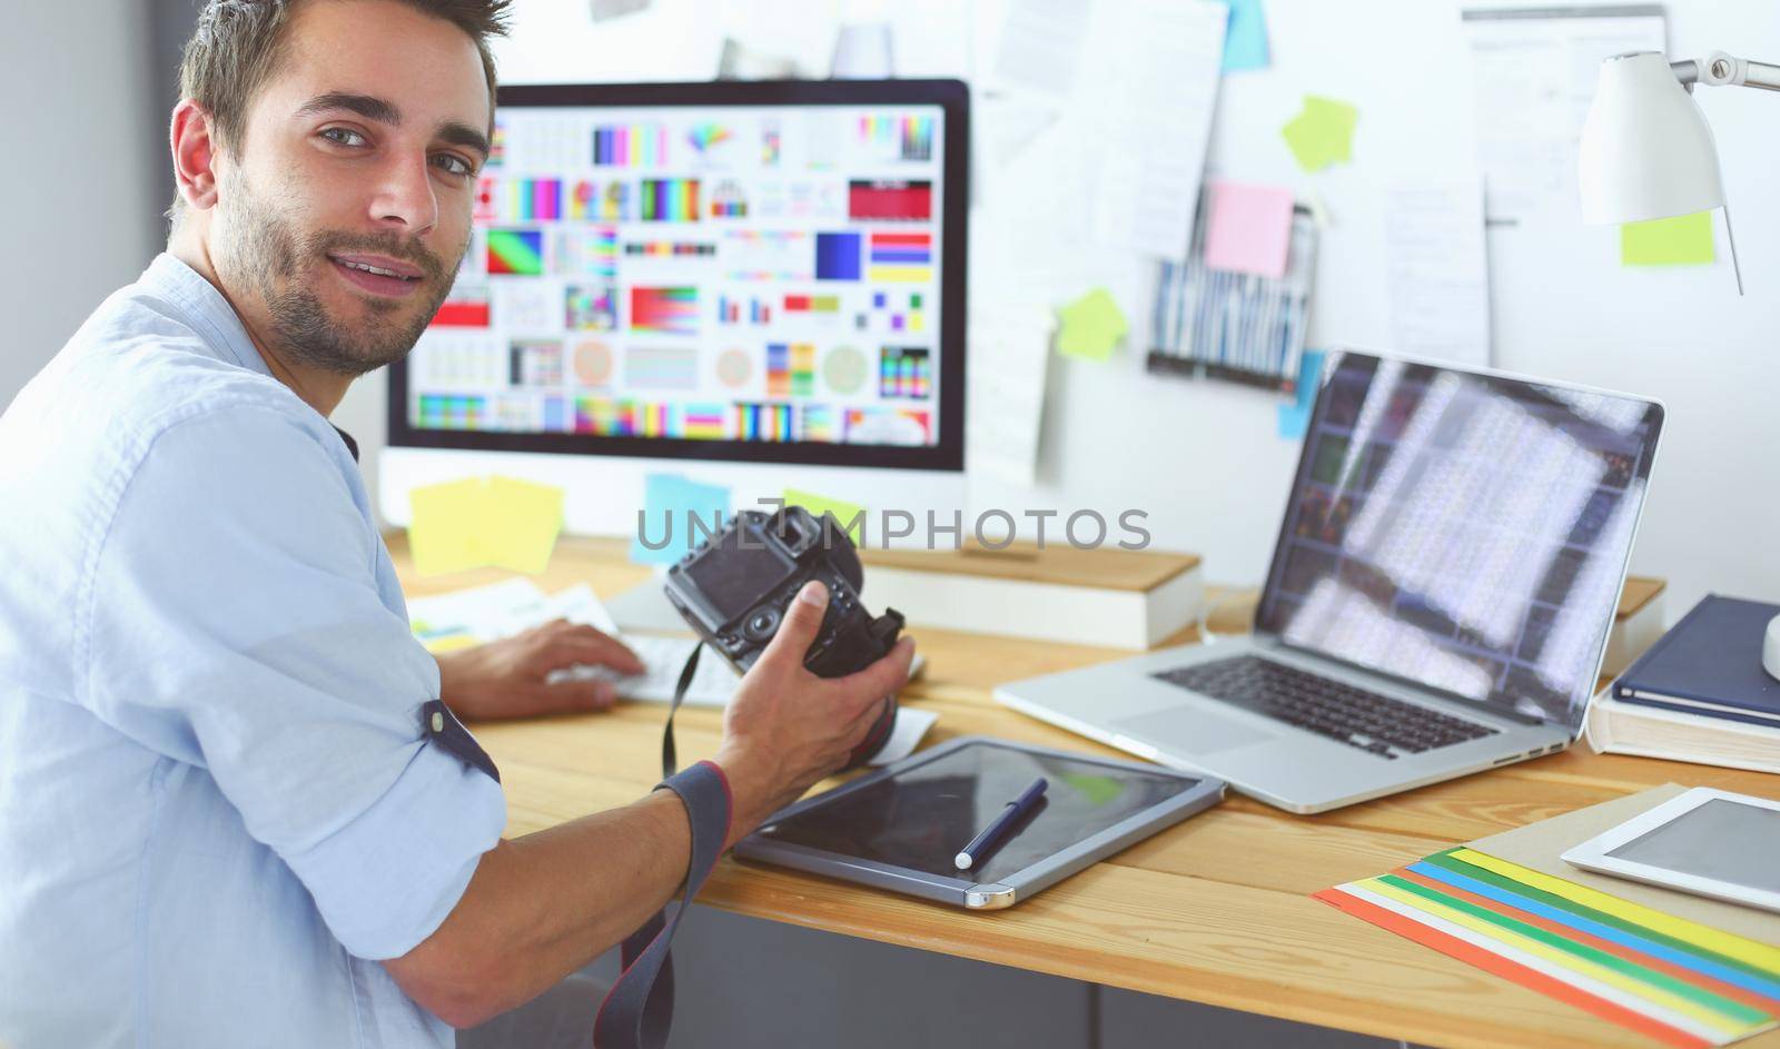
<path fill-rule="evenodd" d="M 963 80 L 712 80 L 689 84 L 511 84 L 507 107 L 938 105 L 945 114 L 940 205 L 940 440 L 933 445 L 691 440 L 578 433 L 420 429 L 408 422 L 408 360 L 390 367 L 390 447 L 794 463 L 897 470 L 965 468 L 965 308 L 970 240 L 970 89 Z"/>

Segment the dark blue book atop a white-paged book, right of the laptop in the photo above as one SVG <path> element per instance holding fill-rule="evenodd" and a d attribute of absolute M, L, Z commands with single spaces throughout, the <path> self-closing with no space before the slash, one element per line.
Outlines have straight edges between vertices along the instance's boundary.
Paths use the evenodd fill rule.
<path fill-rule="evenodd" d="M 1588 711 L 1597 753 L 1780 773 L 1780 680 L 1762 636 L 1780 606 L 1709 595 Z"/>

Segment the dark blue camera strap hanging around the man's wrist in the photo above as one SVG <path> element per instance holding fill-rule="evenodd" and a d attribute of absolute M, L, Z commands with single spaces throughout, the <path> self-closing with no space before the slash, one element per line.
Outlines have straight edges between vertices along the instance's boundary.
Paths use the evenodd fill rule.
<path fill-rule="evenodd" d="M 668 1029 L 673 1026 L 673 956 L 668 946 L 673 942 L 680 919 L 685 917 L 692 898 L 705 885 L 710 869 L 723 855 L 723 842 L 730 837 L 730 816 L 733 800 L 730 782 L 716 762 L 701 760 L 684 773 L 676 773 L 673 744 L 673 716 L 685 700 L 698 671 L 698 654 L 705 646 L 692 648 L 680 680 L 673 689 L 673 705 L 668 707 L 668 728 L 662 732 L 662 782 L 657 791 L 669 789 L 685 803 L 687 823 L 692 826 L 692 862 L 685 873 L 685 892 L 680 907 L 668 917 L 668 908 L 655 912 L 643 928 L 625 937 L 621 949 L 625 971 L 618 983 L 600 1003 L 600 1013 L 593 1021 L 595 1049 L 662 1049 L 668 1044 Z"/>

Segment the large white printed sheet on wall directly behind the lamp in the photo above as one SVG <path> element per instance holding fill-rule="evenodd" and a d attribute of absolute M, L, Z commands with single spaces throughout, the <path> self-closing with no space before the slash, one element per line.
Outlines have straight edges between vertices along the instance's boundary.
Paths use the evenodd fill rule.
<path fill-rule="evenodd" d="M 1600 62 L 1666 50 L 1663 7 L 1486 7 L 1463 21 L 1490 223 L 1579 223 L 1575 150 Z"/>

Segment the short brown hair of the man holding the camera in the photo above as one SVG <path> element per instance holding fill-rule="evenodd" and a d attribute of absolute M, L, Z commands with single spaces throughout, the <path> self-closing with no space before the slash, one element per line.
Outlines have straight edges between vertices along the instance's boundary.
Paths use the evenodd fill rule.
<path fill-rule="evenodd" d="M 488 78 L 488 110 L 495 112 L 495 55 L 488 37 L 507 34 L 511 0 L 397 0 L 415 11 L 443 18 L 475 41 Z M 230 153 L 240 151 L 247 107 L 278 68 L 290 14 L 304 0 L 210 0 L 198 12 L 198 28 L 180 57 L 180 98 L 210 112 L 217 139 Z M 174 196 L 173 212 L 180 210 Z"/>

